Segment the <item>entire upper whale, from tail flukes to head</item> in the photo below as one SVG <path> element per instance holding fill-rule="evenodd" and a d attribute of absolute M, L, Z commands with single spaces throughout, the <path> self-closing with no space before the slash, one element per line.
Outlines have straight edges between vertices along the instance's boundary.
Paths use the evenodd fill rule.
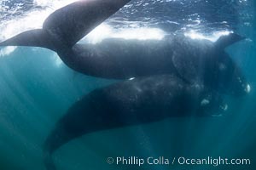
<path fill-rule="evenodd" d="M 241 41 L 235 33 L 217 42 L 182 35 L 163 40 L 112 38 L 96 45 L 77 43 L 130 0 L 86 0 L 56 10 L 43 29 L 25 31 L 0 46 L 36 46 L 54 50 L 75 71 L 103 78 L 127 79 L 172 74 L 190 83 L 202 83 L 225 94 L 249 92 L 241 69 L 224 49 Z"/>

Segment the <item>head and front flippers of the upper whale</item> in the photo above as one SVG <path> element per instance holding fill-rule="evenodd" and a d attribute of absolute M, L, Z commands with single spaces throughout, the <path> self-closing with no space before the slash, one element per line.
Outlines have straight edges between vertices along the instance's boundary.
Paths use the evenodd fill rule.
<path fill-rule="evenodd" d="M 204 84 L 222 94 L 242 96 L 250 92 L 250 85 L 239 65 L 225 52 L 225 48 L 243 40 L 235 33 L 219 37 L 216 42 L 183 40 L 182 49 L 173 54 L 172 62 L 180 77 L 192 84 Z M 189 45 L 187 45 L 189 44 Z"/>

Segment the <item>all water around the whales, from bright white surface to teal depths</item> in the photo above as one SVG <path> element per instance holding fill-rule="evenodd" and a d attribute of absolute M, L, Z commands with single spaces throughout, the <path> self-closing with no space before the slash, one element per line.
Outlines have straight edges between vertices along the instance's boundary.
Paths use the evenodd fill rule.
<path fill-rule="evenodd" d="M 21 0 L 17 8 L 11 9 L 11 7 L 6 7 L 4 4 L 18 1 L 3 0 L 0 2 L 2 5 L 0 6 L 0 15 L 3 14 L 6 20 L 0 22 L 0 42 L 22 31 L 41 28 L 43 21 L 49 14 L 57 8 L 76 1 Z M 32 8 L 20 13 L 21 3 L 24 2 L 32 3 Z M 254 114 L 256 61 L 253 57 L 256 55 L 255 17 L 253 20 L 246 18 L 255 16 L 256 6 L 251 4 L 253 1 L 247 0 L 219 1 L 219 4 L 229 2 L 225 4 L 228 4 L 228 6 L 220 7 L 216 4 L 217 7 L 214 6 L 210 14 L 210 19 L 212 19 L 210 23 L 205 21 L 205 15 L 202 16 L 198 13 L 200 11 L 197 11 L 196 14 L 189 14 L 188 10 L 183 10 L 183 8 L 193 7 L 194 5 L 196 7 L 196 5 L 205 2 L 210 4 L 211 8 L 213 4 L 211 1 L 134 1 L 134 3 L 122 9 L 123 13 L 116 15 L 113 20 L 106 20 L 102 25 L 97 26 L 79 43 L 97 44 L 107 38 L 161 41 L 170 32 L 173 33 L 172 29 L 170 31 L 168 28 L 175 26 L 177 26 L 177 30 L 173 28 L 174 31 L 182 31 L 186 37 L 200 40 L 207 39 L 211 42 L 215 42 L 218 37 L 233 32 L 239 33 L 252 39 L 252 41 L 239 42 L 227 48 L 226 52 L 232 54 L 234 59 L 241 60 L 241 63 L 239 63 L 241 68 L 247 71 L 247 78 L 252 82 L 252 84 L 245 86 L 248 96 L 234 99 L 224 96 L 229 107 L 224 105 L 223 109 L 227 110 L 227 115 L 221 117 L 216 113 L 210 118 L 172 118 L 149 125 L 125 127 L 86 135 L 57 151 L 55 163 L 59 167 L 75 170 L 85 168 L 108 170 L 114 167 L 108 166 L 105 159 L 108 156 L 120 154 L 124 154 L 124 156 L 157 157 L 162 155 L 179 156 L 178 154 L 182 153 L 182 156 L 190 158 L 208 155 L 229 156 L 230 158 L 244 156 L 253 160 L 253 162 L 256 160 L 256 137 L 254 134 L 256 125 Z M 225 17 L 225 19 L 234 17 L 234 15 L 228 15 L 236 12 L 230 6 L 234 2 L 238 5 L 246 3 L 247 5 L 243 7 L 246 13 L 243 14 L 240 8 L 235 8 L 239 11 L 237 20 L 219 19 L 219 16 Z M 157 7 L 160 3 L 165 5 L 170 3 L 172 5 Z M 176 9 L 181 6 L 183 8 L 179 10 L 180 14 L 188 14 L 189 17 L 172 20 L 173 18 L 169 16 L 173 14 L 169 13 L 159 14 L 160 20 L 156 20 L 157 17 L 152 17 L 152 19 L 150 16 L 154 10 L 159 8 L 168 11 L 170 8 Z M 230 10 L 221 14 L 224 12 L 223 8 Z M 249 13 L 249 8 L 253 8 L 253 15 Z M 207 11 L 207 8 L 197 9 Z M 128 12 L 125 13 L 125 10 Z M 16 12 L 19 12 L 19 14 L 15 15 Z M 126 15 L 131 17 L 131 20 L 128 20 Z M 143 15 L 146 17 L 143 18 Z M 152 15 L 157 15 L 157 13 Z M 214 18 L 215 15 L 218 15 L 218 17 Z M 122 17 L 124 17 L 124 20 L 118 20 Z M 177 16 L 175 15 L 175 17 Z M 218 22 L 218 20 L 221 20 L 221 22 Z M 186 21 L 189 21 L 188 25 L 183 26 L 183 22 Z M 200 27 L 218 24 L 221 25 L 221 28 L 212 29 L 214 31 L 206 31 Z M 182 30 L 183 27 L 186 27 L 186 29 Z M 77 99 L 81 99 L 84 94 L 88 94 L 95 88 L 102 88 L 113 81 L 110 80 L 107 83 L 106 80 L 86 76 L 73 78 L 73 71 L 64 66 L 56 53 L 47 49 L 1 47 L 0 59 L 0 136 L 2 138 L 0 141 L 0 150 L 2 150 L 0 169 L 43 170 L 42 143 L 54 127 L 55 122 L 63 116 L 70 105 L 73 105 Z M 220 67 L 225 69 L 222 65 Z M 134 80 L 136 80 L 135 77 L 130 78 L 130 81 Z M 208 104 L 209 100 L 201 100 L 201 105 Z M 120 141 L 122 142 L 120 143 Z M 17 167 L 15 167 L 16 164 Z M 6 168 L 5 165 L 13 168 Z M 242 166 L 240 165 L 240 167 Z M 165 166 L 154 167 L 156 169 L 169 168 Z M 252 167 L 252 169 L 255 169 L 255 165 L 252 165 Z M 175 166 L 175 168 L 181 169 L 183 167 Z M 205 168 L 208 170 L 213 167 L 211 165 L 208 167 L 201 165 L 189 168 L 195 170 Z M 234 166 L 234 169 L 237 168 L 239 167 Z M 242 168 L 250 169 L 248 166 Z M 232 169 L 233 167 L 230 167 L 230 170 Z"/>

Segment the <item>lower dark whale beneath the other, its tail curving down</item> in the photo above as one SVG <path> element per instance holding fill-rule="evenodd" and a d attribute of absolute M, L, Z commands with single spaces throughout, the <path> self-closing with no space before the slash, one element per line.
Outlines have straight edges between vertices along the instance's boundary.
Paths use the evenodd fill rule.
<path fill-rule="evenodd" d="M 206 99 L 209 103 L 204 105 Z M 55 124 L 44 144 L 45 165 L 55 169 L 51 158 L 55 150 L 84 134 L 173 116 L 210 116 L 222 113 L 223 105 L 218 94 L 172 75 L 135 78 L 96 89 Z"/>

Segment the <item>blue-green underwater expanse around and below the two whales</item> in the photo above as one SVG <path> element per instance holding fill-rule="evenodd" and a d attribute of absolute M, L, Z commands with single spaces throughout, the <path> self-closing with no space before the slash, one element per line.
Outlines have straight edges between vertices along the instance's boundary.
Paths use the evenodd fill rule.
<path fill-rule="evenodd" d="M 248 3 L 251 8 L 243 8 L 239 17 L 256 10 L 253 1 Z M 229 18 L 228 14 L 224 16 Z M 147 125 L 90 133 L 55 152 L 58 169 L 255 169 L 256 17 L 253 15 L 246 20 L 239 17 L 237 23 L 233 20 L 230 25 L 236 24 L 231 26 L 233 30 L 246 36 L 247 40 L 227 51 L 245 71 L 252 91 L 242 98 L 227 97 L 229 110 L 226 116 L 170 118 Z M 160 16 L 157 19 L 160 20 Z M 43 170 L 42 145 L 55 122 L 81 96 L 112 82 L 81 75 L 64 64 L 56 65 L 55 53 L 43 48 L 19 47 L 0 58 L 0 169 Z M 222 156 L 247 158 L 251 165 L 137 167 L 109 165 L 106 161 L 109 156 Z"/>

